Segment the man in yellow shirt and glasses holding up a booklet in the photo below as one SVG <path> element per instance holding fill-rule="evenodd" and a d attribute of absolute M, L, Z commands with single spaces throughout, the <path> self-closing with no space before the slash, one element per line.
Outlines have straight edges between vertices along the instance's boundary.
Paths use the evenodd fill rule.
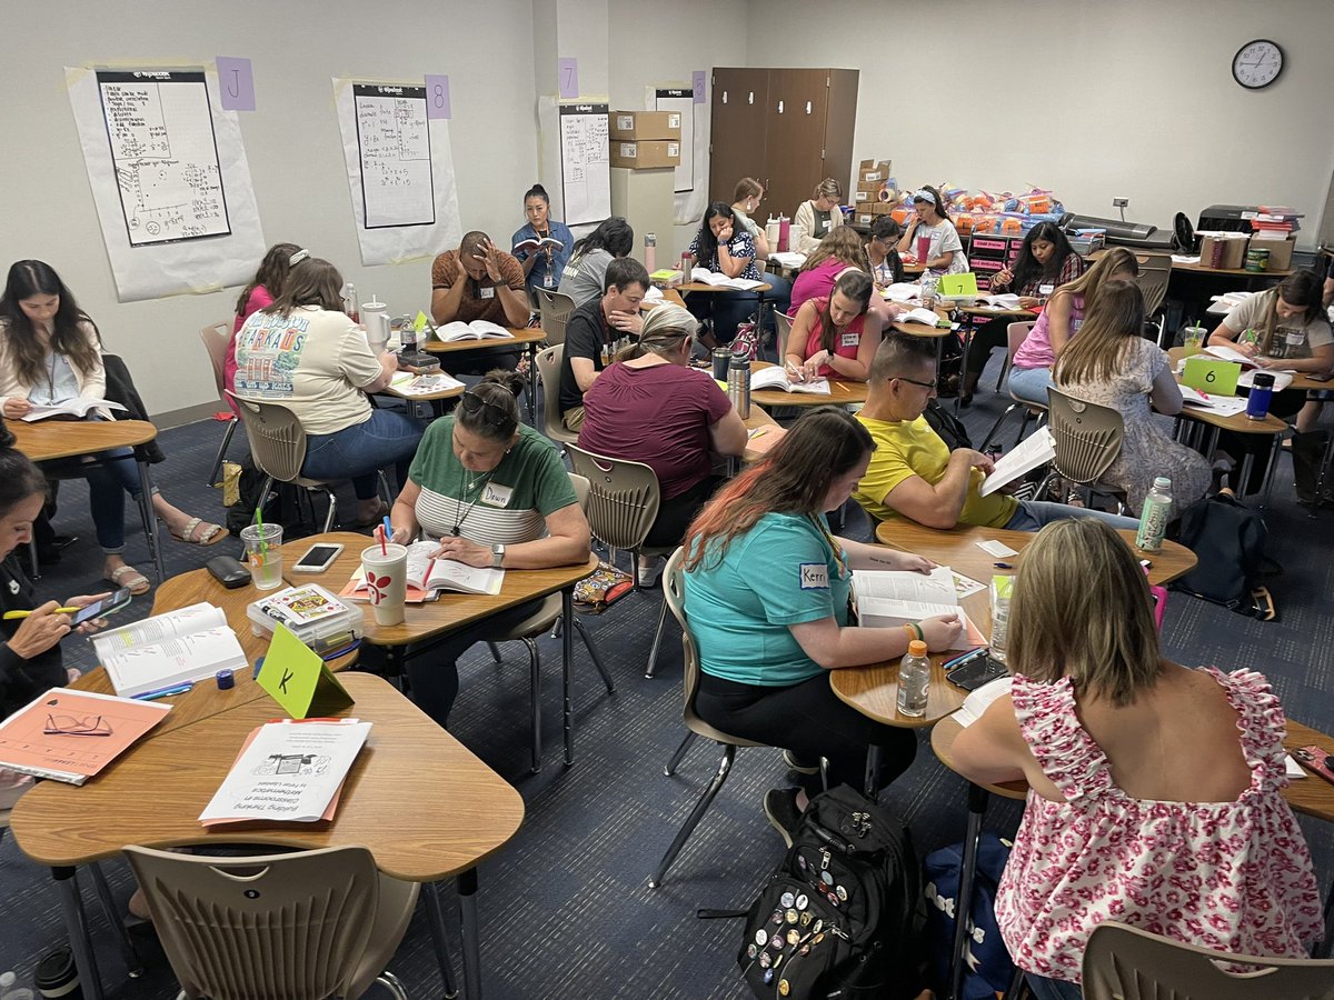
<path fill-rule="evenodd" d="M 908 517 L 927 528 L 978 524 L 987 528 L 1038 531 L 1062 517 L 1097 517 L 1114 528 L 1137 521 L 1103 511 L 1005 493 L 982 496 L 991 459 L 972 448 L 948 445 L 922 413 L 935 396 L 935 343 L 891 333 L 875 352 L 867 399 L 856 415 L 875 439 L 871 465 L 852 492 L 876 520 Z"/>

